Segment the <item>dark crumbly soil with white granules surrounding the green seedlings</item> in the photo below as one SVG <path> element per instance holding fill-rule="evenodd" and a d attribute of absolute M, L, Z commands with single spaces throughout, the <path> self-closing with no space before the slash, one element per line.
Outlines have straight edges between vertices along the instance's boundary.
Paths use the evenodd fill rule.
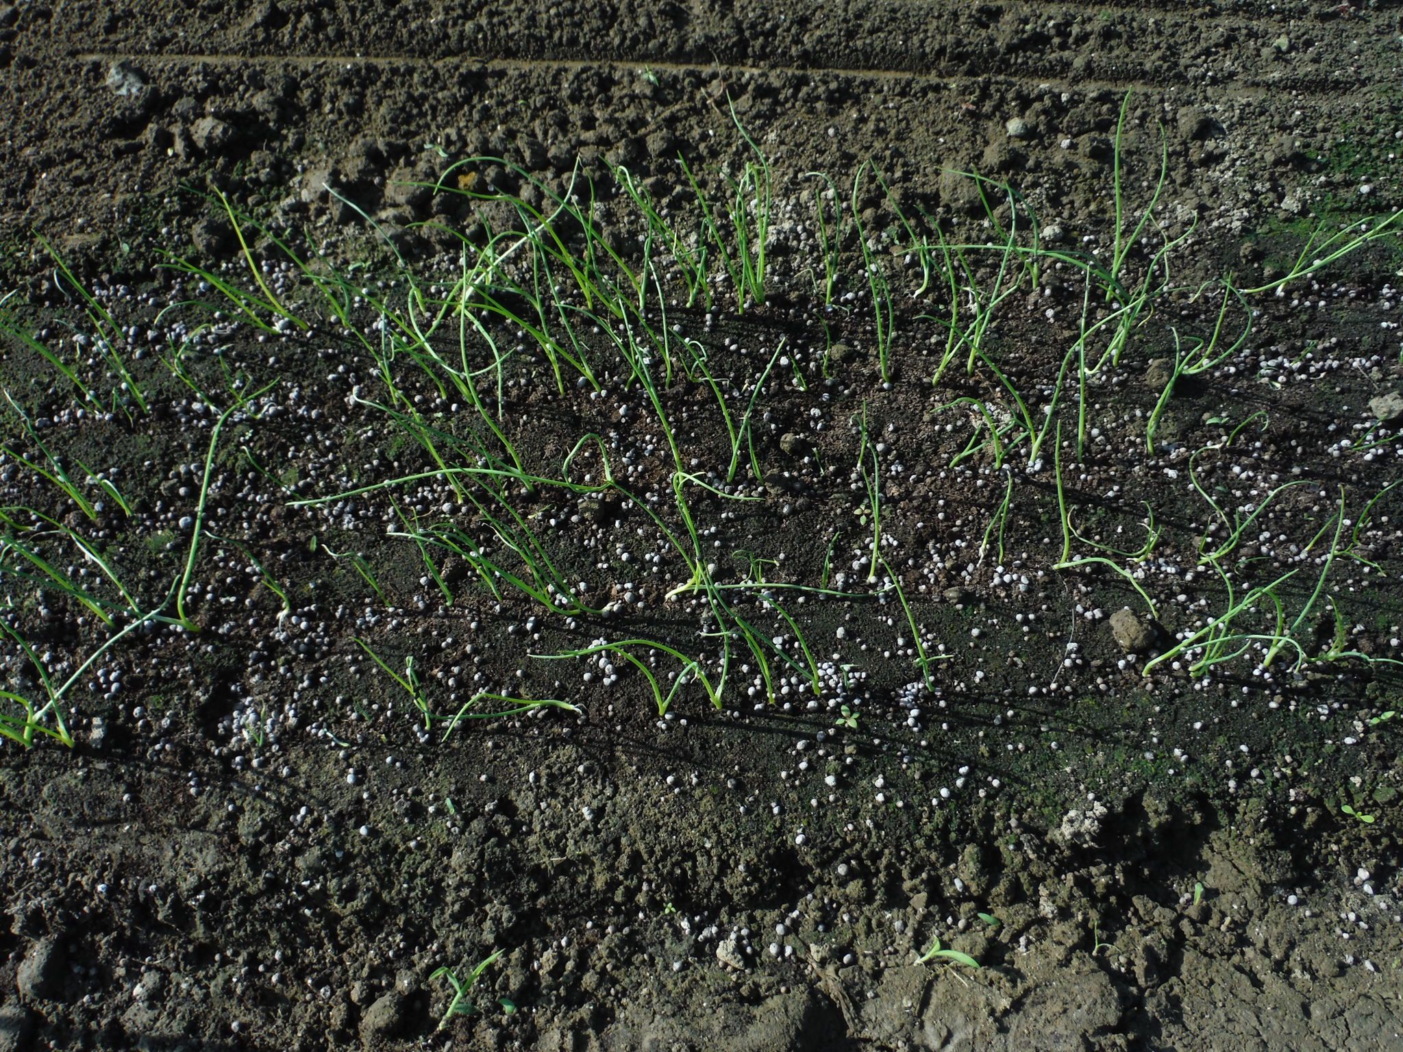
<path fill-rule="evenodd" d="M 1166 182 L 1162 230 L 1127 274 L 1155 237 L 1183 236 L 1176 285 L 1268 285 L 1317 222 L 1403 202 L 1400 31 L 1396 10 L 1362 3 L 0 7 L 3 306 L 100 396 L 83 408 L 35 344 L 0 338 L 0 689 L 41 689 L 21 637 L 66 679 L 130 621 L 105 626 L 10 541 L 115 602 L 56 540 L 72 529 L 150 609 L 181 579 L 210 457 L 198 631 L 153 621 L 81 669 L 72 748 L 0 749 L 0 1049 L 1396 1048 L 1396 231 L 1233 302 L 1225 346 L 1250 321 L 1249 338 L 1181 377 L 1153 450 L 1166 359 L 1176 337 L 1209 337 L 1218 286 L 1159 304 L 1096 377 L 1080 454 L 1075 384 L 1056 405 L 1052 384 L 1083 303 L 1093 321 L 1114 304 L 1049 261 L 1000 306 L 991 358 L 1038 421 L 1063 422 L 1080 537 L 1134 554 L 1146 506 L 1162 529 L 1145 560 L 1117 557 L 1134 579 L 1054 568 L 1055 435 L 1037 463 L 1027 443 L 998 463 L 978 439 L 961 457 L 984 424 L 951 403 L 1016 405 L 962 356 L 932 384 L 950 290 L 937 275 L 918 295 L 891 237 L 895 203 L 971 243 L 1035 213 L 1052 251 L 1108 258 L 1129 93 L 1127 230 L 1162 143 Z M 678 302 L 666 325 L 707 348 L 739 408 L 783 349 L 756 401 L 758 470 L 742 453 L 727 487 L 727 425 L 694 377 L 659 384 L 659 405 L 683 461 L 727 490 L 687 491 L 716 579 L 746 596 L 762 642 L 783 642 L 765 651 L 773 700 L 738 649 L 720 707 L 690 683 L 659 714 L 620 658 L 532 656 L 605 638 L 720 651 L 699 635 L 717 628 L 707 605 L 669 598 L 686 579 L 659 529 L 683 529 L 673 460 L 617 355 L 602 390 L 557 386 L 543 355 L 512 349 L 525 334 L 491 323 L 512 356 L 501 387 L 477 384 L 485 417 L 412 369 L 391 415 L 372 404 L 398 397 L 379 338 L 317 306 L 260 230 L 356 267 L 348 318 L 373 337 L 369 304 L 403 309 L 407 274 L 446 288 L 464 238 L 518 222 L 415 184 L 450 170 L 450 191 L 544 208 L 578 160 L 575 187 L 593 181 L 602 229 L 636 251 L 616 167 L 685 215 L 678 154 L 720 187 L 718 167 L 752 156 L 737 119 L 773 166 L 772 295 L 738 314 L 718 283 L 713 310 Z M 474 157 L 502 163 L 452 167 Z M 857 194 L 898 293 L 885 379 L 850 229 L 822 302 L 807 178 L 832 177 L 845 205 L 868 160 L 891 188 Z M 969 170 L 1021 199 L 986 210 Z M 240 233 L 309 331 L 260 331 L 229 303 L 212 318 L 189 302 L 217 289 L 163 267 L 175 254 L 257 292 Z M 125 389 L 55 254 L 122 327 Z M 452 358 L 449 328 L 434 346 Z M 603 332 L 584 342 L 615 353 Z M 265 384 L 215 440 L 234 393 Z M 501 457 L 487 418 L 532 473 L 598 483 L 606 452 L 638 498 L 506 487 L 488 508 L 539 530 L 591 610 L 494 595 L 464 560 L 394 536 L 462 526 L 492 543 L 446 476 L 391 485 L 441 467 L 425 429 Z M 84 515 L 32 470 L 45 450 L 102 473 L 130 512 Z M 874 582 L 868 450 L 887 537 Z M 1306 610 L 1301 649 L 1268 663 L 1256 641 L 1198 675 L 1188 659 L 1145 675 L 1232 602 L 1201 561 L 1230 527 L 1205 533 L 1195 477 L 1237 522 L 1301 483 L 1222 560 L 1237 598 L 1298 569 L 1280 599 L 1287 623 Z M 1338 516 L 1348 550 L 1326 565 Z M 745 591 L 760 574 L 793 624 Z M 819 582 L 861 595 L 784 589 Z M 892 582 L 937 658 L 929 683 Z M 1244 617 L 1270 630 L 1271 599 Z M 435 714 L 480 690 L 579 711 L 427 729 L 389 675 L 410 658 Z M 682 673 L 661 651 L 650 668 L 664 690 Z M 919 964 L 936 938 L 981 968 Z M 466 979 L 497 952 L 476 1011 L 449 1014 L 438 969 Z"/>

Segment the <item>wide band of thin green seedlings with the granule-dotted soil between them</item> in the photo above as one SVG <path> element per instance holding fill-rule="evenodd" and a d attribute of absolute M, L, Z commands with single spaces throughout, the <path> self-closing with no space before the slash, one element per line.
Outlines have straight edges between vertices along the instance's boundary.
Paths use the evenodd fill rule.
<path fill-rule="evenodd" d="M 427 189 L 480 236 L 384 276 L 222 194 L 239 254 L 173 255 L 160 293 L 90 292 L 45 245 L 49 306 L 0 314 L 0 734 L 72 745 L 74 714 L 156 689 L 142 647 L 241 648 L 223 727 L 260 746 L 372 717 L 331 662 L 424 741 L 627 685 L 659 717 L 694 694 L 856 728 L 877 666 L 918 727 L 992 690 L 981 610 L 1061 641 L 1030 694 L 1106 690 L 1079 626 L 1113 612 L 1148 687 L 1400 663 L 1386 607 L 1355 612 L 1390 588 L 1403 432 L 1294 414 L 1392 362 L 1268 323 L 1350 306 L 1326 275 L 1403 213 L 1186 283 L 1167 154 L 1131 209 L 1120 128 L 1108 244 L 1076 245 L 975 173 L 978 237 L 867 164 L 781 201 L 737 129 L 735 166 L 680 161 L 662 196 L 459 161 Z"/>

